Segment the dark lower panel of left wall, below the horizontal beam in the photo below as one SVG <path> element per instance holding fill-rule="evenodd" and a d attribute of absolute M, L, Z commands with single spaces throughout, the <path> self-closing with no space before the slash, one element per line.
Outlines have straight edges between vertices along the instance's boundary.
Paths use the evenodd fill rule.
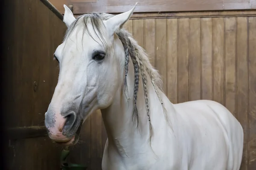
<path fill-rule="evenodd" d="M 48 137 L 17 140 L 7 148 L 7 170 L 59 170 L 62 147 Z"/>

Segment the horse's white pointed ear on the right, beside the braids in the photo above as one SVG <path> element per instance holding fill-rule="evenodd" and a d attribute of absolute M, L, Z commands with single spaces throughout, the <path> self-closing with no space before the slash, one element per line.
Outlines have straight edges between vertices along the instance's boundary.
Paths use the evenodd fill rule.
<path fill-rule="evenodd" d="M 137 6 L 137 3 L 130 11 L 124 12 L 122 14 L 118 14 L 108 20 L 103 21 L 104 25 L 108 29 L 109 35 L 112 36 L 118 28 L 122 28 L 125 22 L 129 20 L 129 18 L 133 14 L 133 11 L 136 6 Z"/>

